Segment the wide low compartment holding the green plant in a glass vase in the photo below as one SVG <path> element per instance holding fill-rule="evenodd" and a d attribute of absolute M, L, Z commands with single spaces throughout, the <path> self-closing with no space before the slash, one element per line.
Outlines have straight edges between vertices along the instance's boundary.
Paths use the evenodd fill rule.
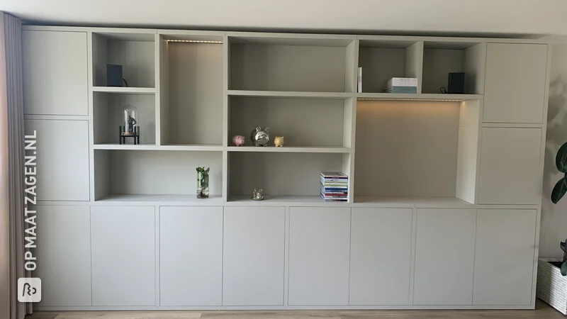
<path fill-rule="evenodd" d="M 210 195 L 220 198 L 223 152 L 94 150 L 95 201 L 196 196 L 196 167 L 203 166 L 210 167 Z M 170 199 L 180 201 L 181 197 Z"/>

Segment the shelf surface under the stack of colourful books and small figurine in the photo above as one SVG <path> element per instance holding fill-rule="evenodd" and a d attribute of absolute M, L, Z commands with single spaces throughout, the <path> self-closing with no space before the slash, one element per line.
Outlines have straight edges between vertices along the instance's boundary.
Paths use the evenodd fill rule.
<path fill-rule="evenodd" d="M 319 195 L 266 195 L 262 201 L 253 201 L 250 195 L 228 196 L 228 205 L 269 205 L 269 206 L 348 206 L 346 201 L 323 201 Z"/>

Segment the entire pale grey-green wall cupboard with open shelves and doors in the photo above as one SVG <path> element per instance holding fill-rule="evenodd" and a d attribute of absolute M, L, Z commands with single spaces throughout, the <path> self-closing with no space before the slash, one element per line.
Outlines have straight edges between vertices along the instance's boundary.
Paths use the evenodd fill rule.
<path fill-rule="evenodd" d="M 38 309 L 534 308 L 548 44 L 22 35 Z M 106 65 L 128 86 L 106 86 Z M 464 94 L 439 93 L 449 72 Z M 417 94 L 381 93 L 391 77 L 417 78 Z M 119 143 L 128 105 L 139 145 Z M 232 144 L 257 126 L 286 144 Z M 322 200 L 321 172 L 349 177 L 347 202 Z"/>

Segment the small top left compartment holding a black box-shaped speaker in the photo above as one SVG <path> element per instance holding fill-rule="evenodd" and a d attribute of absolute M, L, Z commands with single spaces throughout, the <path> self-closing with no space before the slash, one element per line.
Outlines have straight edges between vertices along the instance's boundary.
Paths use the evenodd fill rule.
<path fill-rule="evenodd" d="M 106 65 L 122 65 L 129 87 L 156 87 L 155 33 L 93 33 L 92 38 L 93 86 L 106 86 Z"/>

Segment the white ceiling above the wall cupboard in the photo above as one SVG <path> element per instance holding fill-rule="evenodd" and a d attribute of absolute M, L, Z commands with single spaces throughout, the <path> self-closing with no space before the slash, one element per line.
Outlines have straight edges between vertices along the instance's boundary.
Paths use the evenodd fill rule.
<path fill-rule="evenodd" d="M 64 26 L 567 35 L 567 0 L 0 0 L 0 11 Z"/>

